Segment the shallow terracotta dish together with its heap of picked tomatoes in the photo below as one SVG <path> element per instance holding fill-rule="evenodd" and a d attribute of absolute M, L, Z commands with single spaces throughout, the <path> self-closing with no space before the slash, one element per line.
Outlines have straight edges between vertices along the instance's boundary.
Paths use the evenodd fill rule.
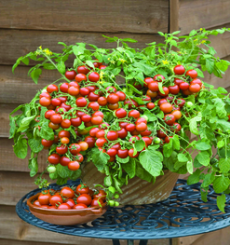
<path fill-rule="evenodd" d="M 30 212 L 55 225 L 80 225 L 91 222 L 107 211 L 106 193 L 84 184 L 44 190 L 27 200 Z"/>

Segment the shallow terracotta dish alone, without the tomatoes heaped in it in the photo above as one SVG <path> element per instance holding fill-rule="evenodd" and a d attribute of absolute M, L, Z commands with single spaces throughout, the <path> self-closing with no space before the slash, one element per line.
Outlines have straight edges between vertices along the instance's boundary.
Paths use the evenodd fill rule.
<path fill-rule="evenodd" d="M 27 200 L 30 212 L 37 218 L 55 225 L 80 225 L 91 222 L 107 211 L 107 206 L 104 203 L 102 207 L 84 208 L 84 209 L 44 209 L 32 204 L 40 193 L 30 197 Z"/>

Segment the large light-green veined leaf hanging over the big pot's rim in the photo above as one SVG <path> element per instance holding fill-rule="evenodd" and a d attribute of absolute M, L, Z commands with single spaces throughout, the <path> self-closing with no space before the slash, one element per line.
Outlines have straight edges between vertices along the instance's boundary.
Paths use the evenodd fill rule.
<path fill-rule="evenodd" d="M 161 174 L 163 156 L 159 151 L 149 147 L 147 150 L 141 152 L 139 160 L 142 167 L 152 176 L 159 176 Z"/>

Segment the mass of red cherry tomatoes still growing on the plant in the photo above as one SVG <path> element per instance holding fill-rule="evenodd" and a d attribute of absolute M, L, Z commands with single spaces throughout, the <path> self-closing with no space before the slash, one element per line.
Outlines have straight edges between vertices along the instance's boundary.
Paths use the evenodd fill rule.
<path fill-rule="evenodd" d="M 98 69 L 106 68 L 98 62 L 94 66 Z M 96 71 L 99 72 L 98 69 Z M 42 139 L 42 144 L 45 148 L 57 144 L 56 152 L 48 157 L 51 164 L 60 163 L 70 170 L 78 170 L 84 159 L 81 152 L 91 147 L 98 147 L 107 153 L 110 162 L 115 161 L 116 156 L 138 157 L 140 152 L 136 152 L 134 147 L 120 144 L 121 140 L 126 140 L 133 146 L 136 140 L 142 139 L 145 148 L 153 142 L 169 143 L 170 134 L 181 130 L 181 125 L 176 121 L 182 117 L 181 109 L 186 101 L 180 97 L 198 93 L 203 87 L 195 70 L 185 73 L 185 68 L 177 65 L 174 67 L 173 85 L 161 86 L 160 89 L 160 83 L 165 84 L 165 77 L 161 74 L 145 78 L 144 86 L 135 82 L 133 86 L 143 91 L 143 103 L 138 104 L 134 98 L 130 98 L 124 91 L 118 91 L 114 86 L 107 87 L 105 91 L 99 89 L 97 82 L 100 82 L 100 74 L 96 71 L 84 65 L 79 66 L 77 72 L 66 71 L 69 83 L 62 83 L 59 87 L 51 84 L 47 91 L 40 94 L 40 105 L 48 108 L 45 118 L 50 120 L 49 127 L 55 132 L 54 140 Z M 163 120 L 169 126 L 169 132 L 167 128 L 158 129 L 157 136 L 160 139 L 152 135 L 148 128 L 148 118 L 142 115 L 143 107 L 150 111 L 159 107 L 164 112 Z M 104 121 L 104 114 L 108 111 L 114 117 L 110 124 Z M 81 130 L 82 124 L 84 129 Z M 113 130 L 116 125 L 118 129 L 115 127 L 116 130 Z M 71 137 L 71 126 L 74 127 L 77 140 Z M 129 139 L 128 133 L 131 134 Z"/>

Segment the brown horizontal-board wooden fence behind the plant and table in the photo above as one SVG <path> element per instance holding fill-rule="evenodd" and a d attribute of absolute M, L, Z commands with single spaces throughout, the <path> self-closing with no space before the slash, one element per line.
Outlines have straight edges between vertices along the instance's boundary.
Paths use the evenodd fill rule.
<path fill-rule="evenodd" d="M 0 244 L 55 245 L 112 244 L 111 241 L 66 236 L 28 225 L 15 213 L 15 204 L 35 188 L 29 177 L 28 159 L 19 160 L 13 153 L 9 136 L 9 113 L 21 103 L 27 103 L 35 92 L 54 81 L 57 73 L 44 71 L 35 85 L 27 77 L 28 67 L 20 66 L 15 75 L 11 67 L 15 60 L 38 46 L 60 51 L 58 41 L 72 44 L 87 42 L 111 47 L 102 34 L 129 37 L 139 42 L 160 42 L 158 31 L 230 27 L 228 0 L 1 0 L 0 1 Z M 211 38 L 218 56 L 230 61 L 230 34 Z M 230 71 L 224 79 L 205 74 L 205 80 L 216 87 L 230 87 Z M 45 168 L 46 154 L 39 157 L 39 171 Z M 173 239 L 173 245 L 229 244 L 230 228 L 188 238 Z M 216 241 L 216 242 L 215 242 Z M 122 244 L 126 244 L 125 241 Z M 168 239 L 149 244 L 169 245 Z"/>

